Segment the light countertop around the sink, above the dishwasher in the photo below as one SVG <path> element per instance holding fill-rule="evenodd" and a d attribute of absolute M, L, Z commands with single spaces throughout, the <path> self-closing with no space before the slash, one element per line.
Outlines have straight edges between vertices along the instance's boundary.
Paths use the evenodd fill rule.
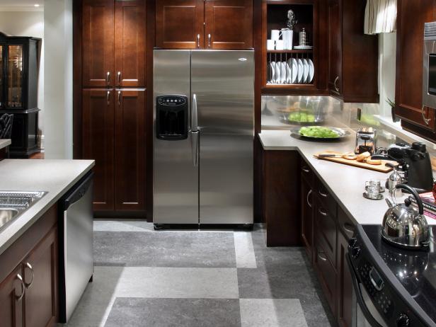
<path fill-rule="evenodd" d="M 93 160 L 6 159 L 0 162 L 0 190 L 47 191 L 0 231 L 0 255 L 94 166 Z"/>

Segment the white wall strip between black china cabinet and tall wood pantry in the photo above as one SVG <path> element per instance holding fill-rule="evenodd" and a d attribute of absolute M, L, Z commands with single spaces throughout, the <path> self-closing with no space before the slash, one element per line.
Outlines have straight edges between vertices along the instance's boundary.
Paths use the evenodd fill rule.
<path fill-rule="evenodd" d="M 72 0 L 45 0 L 44 24 L 45 158 L 72 159 Z"/>

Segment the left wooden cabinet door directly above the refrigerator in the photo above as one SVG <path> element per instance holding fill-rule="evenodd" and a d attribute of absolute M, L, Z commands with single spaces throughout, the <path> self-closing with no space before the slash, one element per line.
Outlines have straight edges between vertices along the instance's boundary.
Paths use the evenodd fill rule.
<path fill-rule="evenodd" d="M 204 45 L 202 0 L 156 0 L 156 46 L 196 49 Z"/>

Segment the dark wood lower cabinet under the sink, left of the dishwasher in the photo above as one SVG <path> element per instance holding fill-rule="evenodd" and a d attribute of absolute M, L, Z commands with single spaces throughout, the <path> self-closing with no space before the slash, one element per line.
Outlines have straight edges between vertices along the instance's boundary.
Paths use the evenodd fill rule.
<path fill-rule="evenodd" d="M 1 327 L 51 327 L 57 321 L 57 205 L 0 255 Z"/>

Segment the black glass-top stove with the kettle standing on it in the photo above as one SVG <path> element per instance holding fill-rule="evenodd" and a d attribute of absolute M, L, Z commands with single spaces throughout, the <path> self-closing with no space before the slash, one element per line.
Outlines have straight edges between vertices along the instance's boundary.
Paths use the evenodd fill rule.
<path fill-rule="evenodd" d="M 396 248 L 381 239 L 381 225 L 357 225 L 347 256 L 352 326 L 436 326 L 435 245 L 432 239 L 430 251 Z"/>

